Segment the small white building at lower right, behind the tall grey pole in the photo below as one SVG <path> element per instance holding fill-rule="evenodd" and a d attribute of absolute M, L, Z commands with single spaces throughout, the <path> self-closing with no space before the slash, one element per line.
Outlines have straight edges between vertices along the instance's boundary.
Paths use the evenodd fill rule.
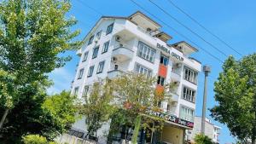
<path fill-rule="evenodd" d="M 218 135 L 220 135 L 221 128 L 215 124 L 212 124 L 210 119 L 206 118 L 206 128 L 205 128 L 205 135 L 207 135 L 212 142 L 219 143 Z M 201 134 L 201 117 L 195 117 L 194 119 L 194 128 L 193 130 L 188 130 L 186 132 L 186 139 L 187 141 L 194 143 L 195 135 Z"/>

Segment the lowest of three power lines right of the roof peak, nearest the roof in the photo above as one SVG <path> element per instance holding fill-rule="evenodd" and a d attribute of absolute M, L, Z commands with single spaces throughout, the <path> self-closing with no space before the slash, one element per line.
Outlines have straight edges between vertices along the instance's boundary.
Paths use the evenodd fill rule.
<path fill-rule="evenodd" d="M 203 50 L 205 53 L 207 53 L 208 55 L 211 55 L 214 59 L 218 60 L 221 63 L 224 63 L 223 60 L 220 60 L 217 56 L 212 55 L 210 52 L 208 52 L 206 49 L 201 48 L 198 44 L 196 44 L 195 42 L 193 42 L 192 40 L 189 39 L 189 37 L 184 36 L 182 33 L 178 32 L 176 29 L 174 29 L 172 26 L 168 25 L 165 21 L 160 20 L 160 18 L 158 18 L 157 16 L 155 16 L 154 14 L 150 13 L 147 9 L 144 9 L 139 3 L 135 2 L 134 0 L 130 0 L 132 3 L 134 3 L 135 5 L 137 5 L 137 7 L 139 7 L 140 9 L 143 9 L 145 12 L 147 12 L 148 14 L 152 15 L 156 20 L 159 20 L 160 22 L 162 22 L 164 25 L 166 25 L 167 27 L 169 27 L 170 29 L 172 29 L 173 32 L 176 32 L 178 35 L 180 35 L 181 37 L 184 37 L 185 39 L 187 39 L 190 43 L 193 43 L 197 48 L 200 48 L 201 50 Z"/>

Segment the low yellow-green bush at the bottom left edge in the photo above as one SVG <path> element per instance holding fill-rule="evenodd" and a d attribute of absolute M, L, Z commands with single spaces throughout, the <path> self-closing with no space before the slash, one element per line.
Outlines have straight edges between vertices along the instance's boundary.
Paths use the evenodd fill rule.
<path fill-rule="evenodd" d="M 55 141 L 47 141 L 44 136 L 41 135 L 26 135 L 22 137 L 24 144 L 57 144 Z"/>

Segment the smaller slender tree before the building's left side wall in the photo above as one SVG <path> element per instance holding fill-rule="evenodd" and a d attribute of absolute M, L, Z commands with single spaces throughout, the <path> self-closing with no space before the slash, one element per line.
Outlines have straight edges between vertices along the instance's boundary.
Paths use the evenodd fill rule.
<path fill-rule="evenodd" d="M 87 95 L 87 94 L 86 94 Z M 113 114 L 113 85 L 108 79 L 99 79 L 89 92 L 89 97 L 84 94 L 84 105 L 81 114 L 85 116 L 88 135 L 97 136 L 97 130 L 109 120 Z"/>

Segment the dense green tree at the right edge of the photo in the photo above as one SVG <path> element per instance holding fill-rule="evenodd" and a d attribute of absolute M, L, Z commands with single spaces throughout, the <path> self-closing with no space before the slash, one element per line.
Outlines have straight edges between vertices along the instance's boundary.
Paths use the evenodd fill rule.
<path fill-rule="evenodd" d="M 232 135 L 242 141 L 256 136 L 256 54 L 241 60 L 230 56 L 214 84 L 215 100 L 212 117 L 227 124 Z"/>

